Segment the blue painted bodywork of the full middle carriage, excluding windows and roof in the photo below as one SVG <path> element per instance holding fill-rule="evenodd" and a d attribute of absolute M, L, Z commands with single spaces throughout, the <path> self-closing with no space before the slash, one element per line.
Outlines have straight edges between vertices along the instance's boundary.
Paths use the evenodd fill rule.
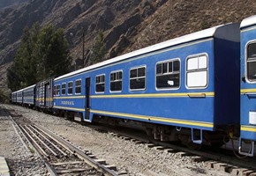
<path fill-rule="evenodd" d="M 223 48 L 227 54 L 223 54 L 223 50 L 216 52 L 215 48 Z M 123 119 L 206 130 L 215 130 L 219 128 L 218 126 L 233 125 L 237 123 L 238 119 L 237 116 L 234 116 L 236 111 L 232 112 L 230 108 L 237 107 L 237 109 L 239 109 L 236 103 L 236 100 L 237 102 L 239 101 L 239 97 L 237 99 L 235 96 L 231 101 L 222 100 L 222 97 L 230 97 L 229 92 L 231 86 L 225 83 L 221 84 L 221 86 L 227 86 L 227 89 L 225 89 L 224 92 L 217 89 L 217 100 L 220 103 L 220 105 L 217 106 L 215 103 L 215 89 L 220 79 L 229 83 L 232 81 L 232 79 L 230 79 L 230 77 L 232 77 L 230 74 L 232 71 L 236 72 L 237 75 L 239 74 L 239 67 L 236 67 L 236 62 L 239 60 L 239 53 L 234 52 L 228 55 L 228 53 L 233 52 L 237 48 L 239 48 L 237 43 L 208 38 L 177 45 L 172 48 L 163 48 L 159 51 L 154 51 L 154 53 L 128 58 L 122 62 L 103 65 L 101 68 L 82 72 L 79 73 L 79 75 L 62 77 L 56 80 L 54 84 L 61 85 L 66 83 L 66 92 L 68 92 L 68 82 L 73 81 L 73 90 L 75 90 L 75 80 L 81 79 L 81 94 L 76 95 L 72 92 L 71 95 L 60 94 L 55 96 L 54 108 L 83 113 L 85 118 L 85 80 L 87 77 L 91 77 L 91 120 L 93 117 L 92 114 L 102 114 Z M 186 87 L 186 59 L 189 55 L 199 54 L 206 54 L 208 57 L 208 83 L 207 86 L 202 89 L 188 89 Z M 236 57 L 235 63 L 232 67 L 229 67 L 230 62 L 234 61 L 232 60 L 234 57 Z M 181 62 L 179 89 L 157 91 L 155 88 L 156 63 L 177 58 Z M 225 59 L 227 61 L 225 61 Z M 130 91 L 130 70 L 141 65 L 146 66 L 147 70 L 146 90 Z M 116 70 L 123 70 L 122 92 L 109 91 L 110 73 Z M 105 92 L 95 93 L 95 77 L 102 74 L 105 75 L 106 80 Z M 221 78 L 220 76 L 223 74 L 227 74 L 227 76 Z M 191 96 L 194 94 L 197 96 Z M 232 91 L 231 94 L 233 95 Z M 224 112 L 220 113 L 221 110 L 224 110 Z"/>

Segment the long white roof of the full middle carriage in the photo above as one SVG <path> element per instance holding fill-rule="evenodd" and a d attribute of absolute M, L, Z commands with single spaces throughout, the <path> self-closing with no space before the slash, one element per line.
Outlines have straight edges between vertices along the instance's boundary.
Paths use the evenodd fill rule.
<path fill-rule="evenodd" d="M 161 43 L 152 45 L 150 47 L 141 48 L 141 49 L 133 51 L 131 53 L 120 55 L 115 58 L 109 59 L 107 61 L 96 63 L 94 65 L 83 68 L 81 70 L 76 70 L 71 73 L 65 74 L 63 76 L 56 77 L 54 80 L 56 81 L 56 80 L 60 80 L 65 77 L 72 77 L 74 75 L 78 75 L 79 73 L 86 72 L 88 70 L 94 70 L 96 68 L 100 68 L 102 66 L 109 65 L 110 63 L 120 62 L 125 59 L 137 56 L 137 55 L 147 54 L 149 52 L 153 52 L 153 51 L 156 51 L 156 50 L 159 50 L 162 48 L 169 48 L 169 47 L 172 47 L 172 46 L 175 46 L 178 44 L 183 44 L 183 43 L 186 43 L 186 42 L 189 42 L 192 40 L 200 40 L 200 39 L 204 39 L 204 38 L 215 37 L 215 38 L 219 38 L 219 39 L 233 40 L 233 41 L 238 42 L 240 40 L 239 25 L 240 24 L 233 23 L 233 24 L 227 24 L 227 25 L 222 25 L 222 26 L 215 26 L 215 27 L 212 27 L 212 28 L 209 28 L 206 30 L 202 30 L 197 33 L 190 33 L 190 34 L 184 35 L 182 37 L 178 37 L 176 39 L 166 40 Z"/>

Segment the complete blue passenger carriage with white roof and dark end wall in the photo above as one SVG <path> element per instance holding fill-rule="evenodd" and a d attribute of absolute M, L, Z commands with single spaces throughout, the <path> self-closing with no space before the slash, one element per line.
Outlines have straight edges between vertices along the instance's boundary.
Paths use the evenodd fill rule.
<path fill-rule="evenodd" d="M 53 107 L 83 121 L 141 121 L 162 141 L 220 145 L 239 125 L 238 77 L 239 25 L 216 26 L 56 77 Z"/>

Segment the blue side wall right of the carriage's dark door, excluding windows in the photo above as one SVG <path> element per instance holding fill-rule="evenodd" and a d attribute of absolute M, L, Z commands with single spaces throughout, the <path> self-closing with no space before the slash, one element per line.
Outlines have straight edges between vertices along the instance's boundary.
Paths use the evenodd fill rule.
<path fill-rule="evenodd" d="M 214 97 L 190 98 L 192 92 L 214 92 L 214 82 L 209 82 L 206 89 L 188 90 L 185 87 L 185 61 L 188 55 L 207 53 L 209 59 L 209 80 L 214 76 L 214 52 L 213 40 L 206 40 L 194 45 L 186 45 L 182 48 L 168 48 L 154 55 L 146 55 L 132 62 L 124 62 L 104 70 L 95 71 L 94 75 L 106 73 L 106 92 L 95 94 L 92 88 L 92 110 L 96 114 L 104 111 L 106 114 L 125 119 L 138 121 L 157 122 L 161 124 L 175 125 L 179 127 L 195 127 L 194 121 L 204 128 L 214 128 Z M 181 86 L 178 90 L 156 91 L 155 89 L 155 65 L 157 62 L 179 58 L 181 61 Z M 129 91 L 129 71 L 134 66 L 147 65 L 147 88 L 141 92 Z M 123 70 L 123 91 L 119 93 L 109 92 L 109 74 L 114 70 Z M 95 77 L 94 76 L 94 77 Z M 95 82 L 93 77 L 93 83 Z M 122 97 L 122 95 L 125 95 Z M 136 95 L 140 95 L 138 98 Z M 121 98 L 120 98 L 121 97 Z M 113 99 L 115 98 L 115 99 Z M 103 114 L 103 113 L 102 113 Z M 127 116 L 126 116 L 127 115 Z M 148 118 L 147 118 L 148 117 Z M 151 117 L 151 118 L 150 118 Z M 154 120 L 153 120 L 154 119 Z"/>

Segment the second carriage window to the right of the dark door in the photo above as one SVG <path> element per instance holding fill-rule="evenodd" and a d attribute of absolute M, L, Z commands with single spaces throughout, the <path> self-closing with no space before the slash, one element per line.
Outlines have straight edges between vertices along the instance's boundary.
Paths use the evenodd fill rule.
<path fill-rule="evenodd" d="M 123 73 L 122 71 L 116 71 L 110 73 L 110 91 L 121 92 L 123 84 Z"/>

